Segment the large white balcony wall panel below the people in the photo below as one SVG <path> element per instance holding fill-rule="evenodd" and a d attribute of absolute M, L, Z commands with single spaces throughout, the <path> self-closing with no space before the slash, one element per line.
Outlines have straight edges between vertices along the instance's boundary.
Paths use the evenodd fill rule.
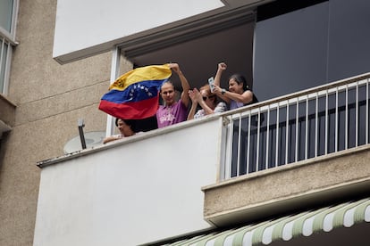
<path fill-rule="evenodd" d="M 34 245 L 138 245 L 210 228 L 201 187 L 216 181 L 221 124 L 159 129 L 42 168 Z"/>

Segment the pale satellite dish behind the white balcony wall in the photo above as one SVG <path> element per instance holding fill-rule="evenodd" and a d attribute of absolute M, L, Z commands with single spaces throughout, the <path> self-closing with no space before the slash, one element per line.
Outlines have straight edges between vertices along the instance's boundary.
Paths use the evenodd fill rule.
<path fill-rule="evenodd" d="M 86 148 L 91 148 L 103 143 L 105 132 L 87 132 L 85 135 Z M 76 135 L 65 143 L 64 153 L 78 152 L 82 150 L 80 135 Z"/>

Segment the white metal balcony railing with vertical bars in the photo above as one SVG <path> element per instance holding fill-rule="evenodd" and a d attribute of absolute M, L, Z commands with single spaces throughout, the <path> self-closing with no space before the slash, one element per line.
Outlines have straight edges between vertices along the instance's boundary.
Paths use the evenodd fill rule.
<path fill-rule="evenodd" d="M 230 111 L 223 178 L 369 143 L 370 73 Z"/>

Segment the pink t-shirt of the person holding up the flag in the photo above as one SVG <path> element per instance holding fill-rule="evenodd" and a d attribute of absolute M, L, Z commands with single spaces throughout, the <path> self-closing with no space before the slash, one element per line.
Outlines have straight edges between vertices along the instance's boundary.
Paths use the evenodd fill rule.
<path fill-rule="evenodd" d="M 156 120 L 158 128 L 171 126 L 176 123 L 185 121 L 188 117 L 188 109 L 184 103 L 179 100 L 171 106 L 159 106 L 156 111 Z"/>

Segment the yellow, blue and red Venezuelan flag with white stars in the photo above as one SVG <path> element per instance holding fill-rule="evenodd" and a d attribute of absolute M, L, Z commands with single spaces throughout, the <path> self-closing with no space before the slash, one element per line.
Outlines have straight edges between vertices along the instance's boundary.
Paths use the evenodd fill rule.
<path fill-rule="evenodd" d="M 121 119 L 146 119 L 158 109 L 159 90 L 172 75 L 168 64 L 130 70 L 104 94 L 99 110 Z"/>

